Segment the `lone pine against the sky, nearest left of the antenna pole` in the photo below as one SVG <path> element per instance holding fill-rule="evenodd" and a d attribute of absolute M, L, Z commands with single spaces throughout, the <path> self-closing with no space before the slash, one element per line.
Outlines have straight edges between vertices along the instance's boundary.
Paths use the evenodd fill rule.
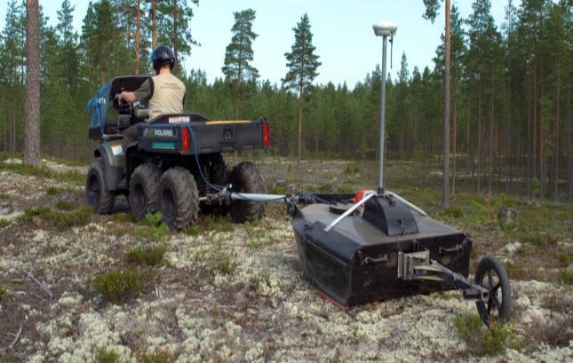
<path fill-rule="evenodd" d="M 283 85 L 298 93 L 298 158 L 297 166 L 300 163 L 302 147 L 302 119 L 303 106 L 307 94 L 312 89 L 314 78 L 318 75 L 316 69 L 320 67 L 319 56 L 314 54 L 316 48 L 313 45 L 313 33 L 310 30 L 310 20 L 304 14 L 297 23 L 294 30 L 294 44 L 290 53 L 285 53 L 287 67 L 289 71 L 283 78 Z"/>

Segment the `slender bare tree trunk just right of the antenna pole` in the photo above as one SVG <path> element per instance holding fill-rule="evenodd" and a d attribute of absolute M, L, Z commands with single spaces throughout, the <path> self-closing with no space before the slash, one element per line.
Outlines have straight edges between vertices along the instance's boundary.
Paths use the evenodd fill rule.
<path fill-rule="evenodd" d="M 446 46 L 445 48 L 445 79 L 444 79 L 444 110 L 443 110 L 443 185 L 442 208 L 448 208 L 450 201 L 450 0 L 446 0 Z"/>

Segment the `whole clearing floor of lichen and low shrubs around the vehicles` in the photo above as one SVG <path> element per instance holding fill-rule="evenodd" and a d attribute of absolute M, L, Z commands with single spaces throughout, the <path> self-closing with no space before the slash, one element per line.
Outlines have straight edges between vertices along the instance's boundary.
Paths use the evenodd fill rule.
<path fill-rule="evenodd" d="M 126 201 L 111 215 L 93 215 L 84 165 L 44 160 L 28 168 L 0 156 L 0 362 L 564 362 L 573 355 L 571 203 L 458 192 L 440 210 L 440 176 L 422 183 L 415 163 L 387 164 L 390 190 L 471 236 L 472 273 L 486 253 L 505 263 L 512 320 L 486 329 L 458 291 L 339 311 L 301 272 L 282 203 L 255 223 L 203 216 L 171 233 L 157 215 L 132 222 Z M 377 175 L 375 162 L 257 164 L 271 193 L 356 191 L 373 187 L 362 183 Z"/>

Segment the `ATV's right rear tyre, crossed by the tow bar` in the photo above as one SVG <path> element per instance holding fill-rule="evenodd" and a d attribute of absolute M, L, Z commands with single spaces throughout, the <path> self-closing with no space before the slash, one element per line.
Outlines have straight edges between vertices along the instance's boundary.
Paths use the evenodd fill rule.
<path fill-rule="evenodd" d="M 267 193 L 265 179 L 259 169 L 251 162 L 236 165 L 228 178 L 231 190 L 237 193 Z M 263 217 L 264 203 L 256 201 L 231 201 L 229 214 L 235 223 L 244 223 Z"/>

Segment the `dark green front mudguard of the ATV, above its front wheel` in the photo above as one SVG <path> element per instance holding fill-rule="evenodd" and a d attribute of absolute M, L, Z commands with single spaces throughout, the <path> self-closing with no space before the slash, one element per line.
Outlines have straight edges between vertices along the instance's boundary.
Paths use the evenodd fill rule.
<path fill-rule="evenodd" d="M 125 189 L 126 186 L 121 184 L 122 179 L 125 178 L 123 140 L 103 141 L 93 151 L 93 155 L 103 160 L 107 189 L 110 191 Z"/>

